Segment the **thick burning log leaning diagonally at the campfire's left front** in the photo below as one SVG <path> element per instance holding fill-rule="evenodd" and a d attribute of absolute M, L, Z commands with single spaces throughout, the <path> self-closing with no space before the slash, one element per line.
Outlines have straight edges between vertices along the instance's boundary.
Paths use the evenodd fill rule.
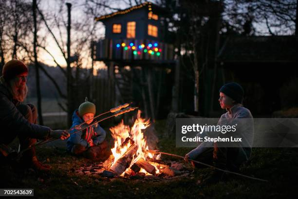
<path fill-rule="evenodd" d="M 122 174 L 130 166 L 130 162 L 136 151 L 136 145 L 130 146 L 130 148 L 122 155 L 122 157 L 113 163 L 110 170 L 117 173 L 118 175 Z"/>

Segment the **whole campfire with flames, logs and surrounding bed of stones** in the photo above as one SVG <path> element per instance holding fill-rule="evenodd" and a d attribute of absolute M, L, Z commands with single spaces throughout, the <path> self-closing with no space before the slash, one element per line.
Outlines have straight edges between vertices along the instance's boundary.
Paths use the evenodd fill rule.
<path fill-rule="evenodd" d="M 161 154 L 156 153 L 156 150 L 150 150 L 144 136 L 149 125 L 149 119 L 141 118 L 141 111 L 138 111 L 131 127 L 125 125 L 122 120 L 118 125 L 110 128 L 114 140 L 112 155 L 103 163 L 80 167 L 77 172 L 87 175 L 100 174 L 103 177 L 130 178 L 167 178 L 190 175 L 182 163 L 163 161 Z"/>

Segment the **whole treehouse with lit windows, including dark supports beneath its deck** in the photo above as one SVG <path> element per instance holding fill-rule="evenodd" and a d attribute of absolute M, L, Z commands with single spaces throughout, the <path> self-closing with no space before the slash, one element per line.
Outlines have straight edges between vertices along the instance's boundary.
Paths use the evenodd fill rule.
<path fill-rule="evenodd" d="M 112 104 L 135 102 L 151 119 L 169 111 L 173 84 L 167 80 L 174 79 L 171 71 L 177 66 L 172 33 L 167 29 L 170 14 L 144 2 L 95 18 L 105 25 L 105 39 L 93 42 L 92 58 L 106 63 L 109 82 L 95 89 L 103 93 L 94 94 L 94 99 L 109 99 Z"/>

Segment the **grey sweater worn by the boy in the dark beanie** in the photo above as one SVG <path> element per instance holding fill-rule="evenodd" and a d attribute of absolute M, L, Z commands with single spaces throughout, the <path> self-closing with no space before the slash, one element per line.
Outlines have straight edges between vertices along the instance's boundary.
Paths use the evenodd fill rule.
<path fill-rule="evenodd" d="M 242 137 L 242 142 L 240 144 L 240 152 L 239 154 L 241 159 L 249 159 L 250 157 L 250 150 L 249 153 L 247 153 L 247 150 L 245 148 L 243 149 L 243 145 L 245 147 L 249 146 L 249 148 L 252 147 L 253 139 L 254 139 L 254 120 L 250 113 L 250 111 L 247 108 L 244 108 L 242 104 L 236 104 L 230 109 L 226 109 L 227 112 L 223 114 L 218 121 L 217 125 L 235 125 L 238 123 L 237 127 L 237 133 Z M 244 119 L 243 119 L 244 118 Z M 245 125 L 239 125 L 243 124 L 243 120 L 245 120 Z M 228 134 L 228 133 L 227 133 Z M 206 132 L 203 132 L 201 135 L 197 135 L 200 137 L 208 136 Z M 213 147 L 213 142 L 206 142 L 203 141 L 200 143 L 200 145 L 190 151 L 188 154 L 189 159 L 196 159 L 201 153 L 203 153 L 208 147 Z"/>

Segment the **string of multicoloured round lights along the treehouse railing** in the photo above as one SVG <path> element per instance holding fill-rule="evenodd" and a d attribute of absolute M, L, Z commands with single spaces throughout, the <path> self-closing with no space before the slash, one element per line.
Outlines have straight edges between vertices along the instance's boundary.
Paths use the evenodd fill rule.
<path fill-rule="evenodd" d="M 122 47 L 124 50 L 133 50 L 133 55 L 141 55 L 141 52 L 149 53 L 150 55 L 160 56 L 162 49 L 158 48 L 158 43 L 149 43 L 147 46 L 145 44 L 140 44 L 136 46 L 134 43 L 130 42 L 129 45 L 126 43 L 117 43 L 116 48 Z"/>

